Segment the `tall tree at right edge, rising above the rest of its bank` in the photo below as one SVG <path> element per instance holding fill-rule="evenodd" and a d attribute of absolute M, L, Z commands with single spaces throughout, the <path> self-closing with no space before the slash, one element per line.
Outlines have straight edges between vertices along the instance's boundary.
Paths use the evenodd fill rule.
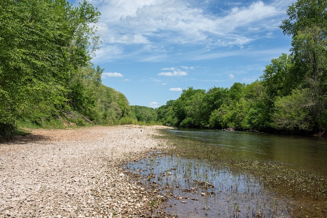
<path fill-rule="evenodd" d="M 289 6 L 288 19 L 281 26 L 284 34 L 292 36 L 294 64 L 303 75 L 302 88 L 310 92 L 310 108 L 315 126 L 326 109 L 327 80 L 327 2 L 298 0 Z"/>

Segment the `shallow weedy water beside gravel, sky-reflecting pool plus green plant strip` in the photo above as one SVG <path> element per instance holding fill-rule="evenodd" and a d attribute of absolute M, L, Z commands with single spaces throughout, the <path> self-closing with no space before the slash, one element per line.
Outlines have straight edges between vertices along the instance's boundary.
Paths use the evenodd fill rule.
<path fill-rule="evenodd" d="M 164 153 L 129 163 L 156 217 L 324 217 L 327 181 L 290 165 L 163 132 Z"/>

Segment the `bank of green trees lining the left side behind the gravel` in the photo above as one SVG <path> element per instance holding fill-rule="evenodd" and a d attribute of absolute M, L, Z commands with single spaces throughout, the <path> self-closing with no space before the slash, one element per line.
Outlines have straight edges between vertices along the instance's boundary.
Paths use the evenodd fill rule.
<path fill-rule="evenodd" d="M 97 8 L 85 0 L 76 7 L 65 0 L 3 0 L 0 11 L 0 135 L 17 124 L 55 126 L 71 111 L 98 124 L 129 114 L 125 95 L 104 86 L 104 69 L 91 63 L 100 44 L 92 25 Z"/>

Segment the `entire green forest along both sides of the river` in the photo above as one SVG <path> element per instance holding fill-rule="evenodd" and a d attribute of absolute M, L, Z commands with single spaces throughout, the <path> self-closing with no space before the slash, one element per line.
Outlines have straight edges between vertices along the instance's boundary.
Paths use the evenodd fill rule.
<path fill-rule="evenodd" d="M 0 2 L 0 135 L 19 127 L 162 124 L 324 135 L 327 128 L 327 2 L 298 0 L 281 31 L 292 37 L 251 84 L 189 87 L 159 108 L 129 105 L 91 62 L 101 14 L 86 0 Z"/>

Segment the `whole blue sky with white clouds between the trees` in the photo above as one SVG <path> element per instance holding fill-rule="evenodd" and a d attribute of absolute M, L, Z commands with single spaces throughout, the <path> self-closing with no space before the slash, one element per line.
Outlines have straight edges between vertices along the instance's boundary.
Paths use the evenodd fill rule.
<path fill-rule="evenodd" d="M 188 87 L 251 83 L 272 58 L 290 53 L 279 26 L 294 2 L 90 0 L 102 13 L 92 62 L 130 105 L 165 105 Z"/>

